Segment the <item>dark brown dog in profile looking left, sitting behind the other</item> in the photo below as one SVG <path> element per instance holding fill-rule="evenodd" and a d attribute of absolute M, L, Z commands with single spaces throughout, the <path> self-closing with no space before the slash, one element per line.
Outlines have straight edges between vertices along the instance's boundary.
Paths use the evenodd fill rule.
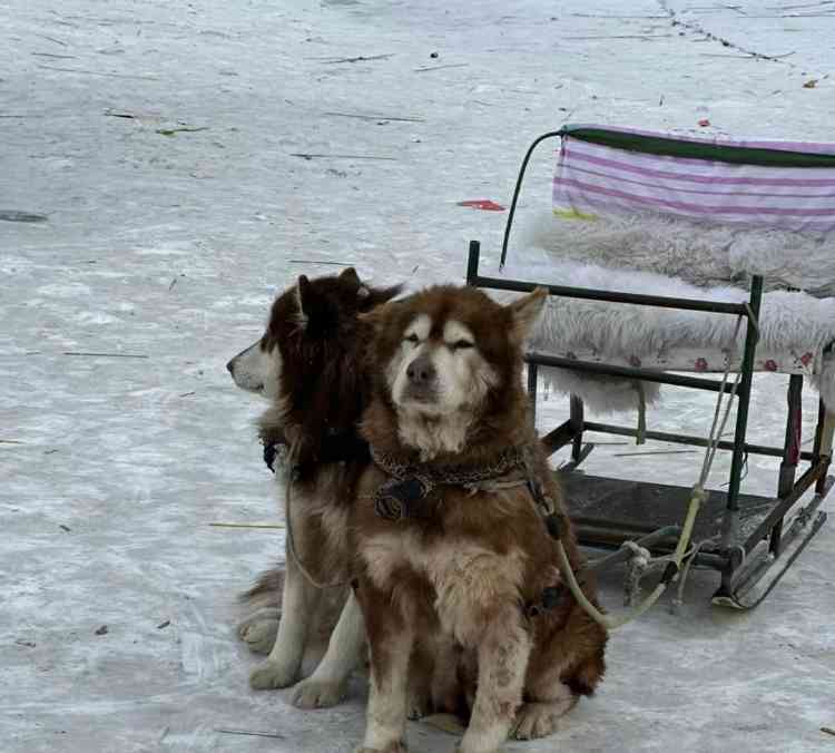
<path fill-rule="evenodd" d="M 274 302 L 263 336 L 227 364 L 238 387 L 272 403 L 259 421 L 262 441 L 267 450 L 277 442 L 287 448 L 296 550 L 321 583 L 350 577 L 346 525 L 356 481 L 369 462 L 357 422 L 369 394 L 363 356 L 371 325 L 358 316 L 399 291 L 370 287 L 353 268 L 338 276 L 302 276 Z M 281 485 L 286 479 L 276 470 Z M 293 703 L 337 703 L 352 669 L 364 658 L 362 615 L 350 590 L 317 589 L 291 552 L 284 578 L 277 569 L 265 574 L 248 597 L 254 606 L 271 606 L 239 627 L 254 649 L 269 652 L 252 673 L 252 686 L 295 684 L 305 649 L 330 638 L 313 675 L 296 686 Z"/>

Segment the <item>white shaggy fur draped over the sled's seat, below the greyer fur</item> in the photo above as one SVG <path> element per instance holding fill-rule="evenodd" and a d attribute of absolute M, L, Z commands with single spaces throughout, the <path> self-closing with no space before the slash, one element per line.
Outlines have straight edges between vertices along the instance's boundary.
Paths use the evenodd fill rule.
<path fill-rule="evenodd" d="M 511 262 L 504 276 L 528 282 L 551 283 L 626 293 L 645 293 L 709 301 L 741 302 L 748 292 L 739 287 L 697 287 L 675 277 L 649 272 L 611 270 L 597 264 L 557 261 L 550 252 L 528 248 L 519 254 L 525 262 Z M 744 345 L 745 324 L 734 342 L 736 316 L 677 311 L 632 304 L 601 303 L 550 296 L 530 348 L 543 353 L 599 354 L 601 360 L 618 362 L 656 359 L 659 353 L 705 351 L 727 353 L 731 361 Z M 835 299 L 816 299 L 806 293 L 773 291 L 763 297 L 759 315 L 758 351 L 769 353 L 808 353 L 813 361 L 808 373 L 828 405 L 835 407 L 835 361 L 824 358 L 823 350 L 835 341 Z M 675 361 L 671 358 L 670 361 Z M 582 397 L 601 411 L 637 407 L 633 382 L 597 378 L 563 369 L 543 369 L 543 375 L 556 389 Z M 658 385 L 646 384 L 651 402 Z"/>

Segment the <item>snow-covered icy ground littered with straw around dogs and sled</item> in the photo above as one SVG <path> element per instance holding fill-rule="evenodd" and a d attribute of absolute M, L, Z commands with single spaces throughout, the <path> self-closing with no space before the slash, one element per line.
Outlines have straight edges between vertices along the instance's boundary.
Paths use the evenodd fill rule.
<path fill-rule="evenodd" d="M 469 238 L 493 263 L 505 215 L 456 202 L 507 203 L 528 143 L 566 120 L 835 140 L 833 11 L 0 2 L 0 212 L 47 217 L 0 219 L 0 750 L 351 751 L 361 683 L 321 712 L 247 686 L 234 596 L 282 542 L 207 525 L 278 517 L 227 359 L 301 273 L 461 281 Z M 759 384 L 752 431 L 778 443 L 784 381 Z M 710 400 L 670 391 L 650 427 L 705 431 Z M 542 408 L 552 426 L 566 404 Z M 804 439 L 814 415 L 807 394 Z M 588 469 L 695 480 L 696 454 L 628 451 Z M 774 463 L 745 483 L 773 491 Z M 711 608 L 698 574 L 679 616 L 662 604 L 612 637 L 559 734 L 508 750 L 833 750 L 834 531 L 753 614 Z M 419 724 L 410 742 L 454 744 Z"/>

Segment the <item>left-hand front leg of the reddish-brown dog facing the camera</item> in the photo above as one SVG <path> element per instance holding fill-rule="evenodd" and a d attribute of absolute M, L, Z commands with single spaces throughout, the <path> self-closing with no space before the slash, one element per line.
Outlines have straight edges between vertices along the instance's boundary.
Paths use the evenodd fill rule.
<path fill-rule="evenodd" d="M 363 584 L 360 594 L 371 647 L 371 691 L 365 740 L 356 753 L 405 753 L 413 620 L 404 618 L 391 594 L 370 584 Z"/>

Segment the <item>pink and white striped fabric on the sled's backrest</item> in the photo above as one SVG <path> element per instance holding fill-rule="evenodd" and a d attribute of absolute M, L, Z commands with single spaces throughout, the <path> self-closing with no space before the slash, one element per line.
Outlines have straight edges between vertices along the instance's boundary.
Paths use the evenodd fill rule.
<path fill-rule="evenodd" d="M 674 138 L 835 155 L 835 145 L 826 144 Z M 654 155 L 572 138 L 569 131 L 557 162 L 553 204 L 558 213 L 574 216 L 651 212 L 697 222 L 827 233 L 835 231 L 835 167 L 766 167 Z"/>

